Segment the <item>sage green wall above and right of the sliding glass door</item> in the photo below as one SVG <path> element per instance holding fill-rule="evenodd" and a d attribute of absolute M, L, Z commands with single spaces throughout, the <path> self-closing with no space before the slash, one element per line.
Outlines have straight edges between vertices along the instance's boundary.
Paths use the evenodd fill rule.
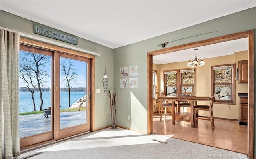
<path fill-rule="evenodd" d="M 51 41 L 70 45 L 76 48 L 92 51 L 101 54 L 95 56 L 95 89 L 100 89 L 100 94 L 95 94 L 95 129 L 111 125 L 110 107 L 107 97 L 103 97 L 102 79 L 105 73 L 108 75 L 108 89 L 113 90 L 113 49 L 78 37 L 78 44 L 68 44 L 59 40 L 34 34 L 34 23 L 28 19 L 10 14 L 0 10 L 0 26 L 18 32 L 38 36 Z M 75 35 L 76 36 L 76 35 Z M 96 91 L 95 91 L 96 92 Z"/>

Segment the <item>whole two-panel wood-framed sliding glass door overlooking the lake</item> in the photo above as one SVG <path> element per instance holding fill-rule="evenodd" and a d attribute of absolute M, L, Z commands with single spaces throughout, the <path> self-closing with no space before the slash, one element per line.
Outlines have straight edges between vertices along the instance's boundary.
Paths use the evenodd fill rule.
<path fill-rule="evenodd" d="M 20 147 L 90 131 L 89 58 L 20 45 Z"/>

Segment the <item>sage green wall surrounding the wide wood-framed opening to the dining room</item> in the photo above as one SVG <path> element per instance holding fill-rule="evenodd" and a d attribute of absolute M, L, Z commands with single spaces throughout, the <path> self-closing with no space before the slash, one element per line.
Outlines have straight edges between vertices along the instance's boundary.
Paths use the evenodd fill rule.
<path fill-rule="evenodd" d="M 116 124 L 147 132 L 147 52 L 162 49 L 157 46 L 158 44 L 177 40 L 168 43 L 166 45 L 168 48 L 247 30 L 255 32 L 255 29 L 256 7 L 114 49 L 114 91 L 118 94 Z M 217 32 L 186 38 L 214 31 Z M 136 35 L 134 34 L 134 36 Z M 255 37 L 254 46 L 256 46 Z M 120 67 L 131 65 L 138 65 L 138 76 L 136 76 L 138 77 L 138 88 L 121 89 Z M 128 78 L 131 77 L 128 76 Z M 130 120 L 127 120 L 127 115 L 131 116 Z M 254 128 L 256 127 L 254 126 Z"/>

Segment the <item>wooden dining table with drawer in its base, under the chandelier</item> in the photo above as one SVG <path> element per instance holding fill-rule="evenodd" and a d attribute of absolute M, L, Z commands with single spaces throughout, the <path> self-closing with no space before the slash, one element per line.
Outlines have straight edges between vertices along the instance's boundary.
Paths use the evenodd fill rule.
<path fill-rule="evenodd" d="M 175 121 L 187 121 L 191 123 L 191 127 L 194 127 L 194 105 L 197 105 L 197 101 L 210 101 L 210 96 L 159 96 L 158 99 L 165 99 L 168 102 L 172 102 L 172 124 L 175 125 Z M 190 113 L 189 112 L 175 112 L 175 101 L 190 101 Z"/>

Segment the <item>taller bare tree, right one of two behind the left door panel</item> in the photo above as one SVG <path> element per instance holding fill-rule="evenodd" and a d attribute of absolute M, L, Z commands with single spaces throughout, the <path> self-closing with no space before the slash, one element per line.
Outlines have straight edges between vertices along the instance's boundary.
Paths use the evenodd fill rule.
<path fill-rule="evenodd" d="M 48 70 L 46 70 L 46 65 L 50 64 L 50 57 L 42 54 L 35 54 L 32 52 L 23 52 L 20 55 L 20 71 L 23 72 L 24 78 L 22 79 L 26 84 L 32 83 L 31 81 L 35 80 L 35 83 L 38 86 L 38 91 L 40 93 L 40 110 L 43 109 L 43 97 L 42 97 L 42 87 L 46 83 L 45 78 L 50 77 Z M 28 78 L 26 78 L 27 76 Z M 22 78 L 22 77 L 21 77 Z M 32 87 L 36 85 L 32 84 Z M 27 86 L 29 87 L 29 85 Z M 34 93 L 33 93 L 34 94 Z M 34 109 L 35 110 L 35 109 Z"/>

